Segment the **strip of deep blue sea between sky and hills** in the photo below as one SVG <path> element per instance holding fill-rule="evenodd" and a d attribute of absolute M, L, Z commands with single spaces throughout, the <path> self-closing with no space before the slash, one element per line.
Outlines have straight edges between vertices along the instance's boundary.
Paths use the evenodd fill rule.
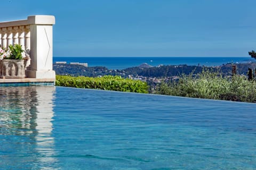
<path fill-rule="evenodd" d="M 122 70 L 147 63 L 151 66 L 159 65 L 196 65 L 219 66 L 227 63 L 256 62 L 251 57 L 53 57 L 55 62 L 87 63 L 88 66 L 105 66 L 112 70 Z"/>

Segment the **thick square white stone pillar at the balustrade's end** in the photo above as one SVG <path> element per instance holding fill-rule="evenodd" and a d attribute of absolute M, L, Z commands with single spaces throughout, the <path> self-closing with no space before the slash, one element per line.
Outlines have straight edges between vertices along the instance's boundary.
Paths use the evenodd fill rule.
<path fill-rule="evenodd" d="M 55 18 L 51 15 L 28 16 L 30 27 L 31 64 L 26 71 L 28 78 L 54 79 L 52 70 L 52 25 Z"/>

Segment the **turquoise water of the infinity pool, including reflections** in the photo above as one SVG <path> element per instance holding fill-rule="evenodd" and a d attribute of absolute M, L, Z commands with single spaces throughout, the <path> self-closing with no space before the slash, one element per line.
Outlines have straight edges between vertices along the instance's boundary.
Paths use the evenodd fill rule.
<path fill-rule="evenodd" d="M 0 169 L 255 169 L 256 105 L 0 88 Z"/>

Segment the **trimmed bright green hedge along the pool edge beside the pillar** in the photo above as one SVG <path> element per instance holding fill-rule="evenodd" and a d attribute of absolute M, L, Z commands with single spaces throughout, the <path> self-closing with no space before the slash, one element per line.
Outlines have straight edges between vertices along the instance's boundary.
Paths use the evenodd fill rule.
<path fill-rule="evenodd" d="M 56 75 L 56 86 L 148 93 L 146 82 L 106 75 L 101 78 Z"/>

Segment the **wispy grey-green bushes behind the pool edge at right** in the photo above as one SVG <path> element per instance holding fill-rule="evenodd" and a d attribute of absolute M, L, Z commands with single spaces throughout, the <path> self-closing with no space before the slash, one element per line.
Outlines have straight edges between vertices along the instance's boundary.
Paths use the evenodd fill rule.
<path fill-rule="evenodd" d="M 155 94 L 256 103 L 256 81 L 244 75 L 227 78 L 203 70 L 196 76 L 183 74 L 178 82 L 162 82 Z"/>

